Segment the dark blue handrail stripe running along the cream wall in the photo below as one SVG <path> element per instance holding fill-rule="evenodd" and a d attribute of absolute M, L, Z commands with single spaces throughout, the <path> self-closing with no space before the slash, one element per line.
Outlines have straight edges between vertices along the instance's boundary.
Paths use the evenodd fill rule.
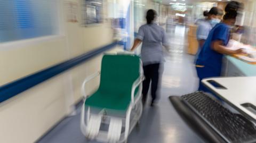
<path fill-rule="evenodd" d="M 57 74 L 60 74 L 78 64 L 89 60 L 90 58 L 107 51 L 117 45 L 117 41 L 107 46 L 95 49 L 91 52 L 85 53 L 83 55 L 72 58 L 71 60 L 62 62 L 60 64 L 51 66 L 50 68 L 44 69 L 42 71 L 36 72 L 34 74 L 28 75 L 27 77 L 21 78 L 19 80 L 7 83 L 4 86 L 0 87 L 0 103 L 5 100 L 20 94 L 21 92 L 38 85 L 39 83 L 54 77 Z"/>

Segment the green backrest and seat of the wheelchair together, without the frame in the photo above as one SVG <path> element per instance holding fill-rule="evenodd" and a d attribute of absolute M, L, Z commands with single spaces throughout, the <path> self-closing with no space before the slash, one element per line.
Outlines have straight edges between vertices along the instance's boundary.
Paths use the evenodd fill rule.
<path fill-rule="evenodd" d="M 140 57 L 104 55 L 101 63 L 100 86 L 85 101 L 86 106 L 126 111 L 131 103 L 134 81 L 140 77 Z M 137 95 L 138 87 L 134 92 Z"/>

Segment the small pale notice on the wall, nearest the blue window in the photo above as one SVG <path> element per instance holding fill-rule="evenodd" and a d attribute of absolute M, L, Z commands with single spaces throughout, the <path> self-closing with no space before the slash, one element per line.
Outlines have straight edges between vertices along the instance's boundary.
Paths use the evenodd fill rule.
<path fill-rule="evenodd" d="M 78 3 L 76 2 L 67 2 L 67 21 L 76 23 L 78 14 Z"/>

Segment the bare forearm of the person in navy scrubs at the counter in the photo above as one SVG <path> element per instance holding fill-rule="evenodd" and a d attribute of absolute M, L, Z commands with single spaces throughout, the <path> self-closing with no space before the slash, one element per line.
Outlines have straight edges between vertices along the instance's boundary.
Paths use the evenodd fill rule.
<path fill-rule="evenodd" d="M 223 43 L 221 40 L 214 41 L 212 43 L 212 48 L 214 51 L 220 53 L 220 54 L 226 54 L 226 55 L 234 55 L 234 54 L 243 54 L 243 49 L 237 49 L 237 50 L 231 50 L 227 47 L 223 46 Z"/>

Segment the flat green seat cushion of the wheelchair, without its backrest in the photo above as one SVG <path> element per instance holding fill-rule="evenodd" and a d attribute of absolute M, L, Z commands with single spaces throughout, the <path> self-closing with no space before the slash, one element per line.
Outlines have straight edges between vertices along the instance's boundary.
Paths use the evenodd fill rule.
<path fill-rule="evenodd" d="M 135 95 L 138 90 L 135 91 Z M 86 99 L 85 105 L 109 110 L 126 111 L 131 102 L 131 92 L 102 93 L 99 90 Z"/>

